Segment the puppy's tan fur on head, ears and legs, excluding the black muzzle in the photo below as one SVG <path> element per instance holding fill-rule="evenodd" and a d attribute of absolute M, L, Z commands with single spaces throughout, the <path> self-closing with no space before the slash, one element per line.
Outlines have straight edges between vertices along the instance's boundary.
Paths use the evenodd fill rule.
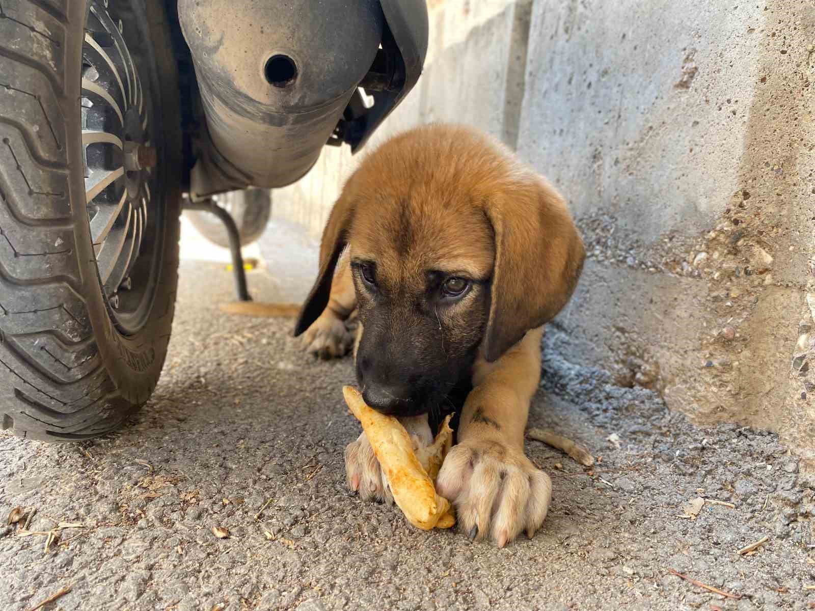
<path fill-rule="evenodd" d="M 456 503 L 467 532 L 502 546 L 522 530 L 533 534 L 551 496 L 549 478 L 523 453 L 540 339 L 543 324 L 571 297 L 584 260 L 565 201 L 504 147 L 467 127 L 430 125 L 392 138 L 359 166 L 328 220 L 319 277 L 297 324 L 312 351 L 344 354 L 350 345 L 342 321 L 364 292 L 354 291 L 361 280 L 349 257 L 341 258 L 346 248 L 355 261 L 376 262 L 377 281 L 390 294 L 416 294 L 426 270 L 468 275 L 491 292 L 475 337 L 474 389 L 438 487 Z M 443 341 L 474 345 L 468 325 L 477 300 L 474 290 L 437 310 Z M 360 325 L 357 345 L 362 334 Z M 367 496 L 384 498 L 375 462 L 362 439 L 346 452 L 355 489 L 370 487 Z"/>

